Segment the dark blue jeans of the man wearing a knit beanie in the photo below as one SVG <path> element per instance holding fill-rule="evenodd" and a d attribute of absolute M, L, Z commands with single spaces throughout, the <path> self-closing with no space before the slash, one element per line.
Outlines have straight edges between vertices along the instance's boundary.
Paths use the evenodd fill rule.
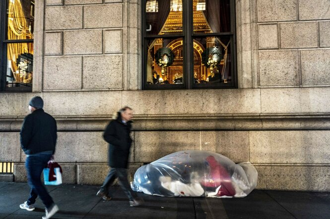
<path fill-rule="evenodd" d="M 41 173 L 47 167 L 47 162 L 52 157 L 51 154 L 28 156 L 25 160 L 25 168 L 27 171 L 27 181 L 31 188 L 30 197 L 27 200 L 28 205 L 36 202 L 39 195 L 41 201 L 46 208 L 50 208 L 54 202 L 52 197 L 48 194 L 44 184 L 41 182 Z"/>

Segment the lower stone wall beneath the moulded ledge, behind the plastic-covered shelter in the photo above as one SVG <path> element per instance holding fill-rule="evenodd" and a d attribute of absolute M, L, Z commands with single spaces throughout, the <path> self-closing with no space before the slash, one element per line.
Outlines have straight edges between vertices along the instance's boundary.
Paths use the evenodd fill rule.
<path fill-rule="evenodd" d="M 18 135 L 6 133 L 2 139 L 15 142 Z M 59 132 L 55 158 L 63 167 L 64 183 L 102 184 L 109 167 L 101 135 L 101 131 Z M 195 149 L 223 154 L 236 163 L 252 162 L 260 189 L 330 190 L 329 166 L 321 165 L 330 156 L 329 131 L 134 131 L 133 136 L 130 180 L 143 163 Z M 6 156 L 0 159 L 15 161 L 15 181 L 26 181 L 23 152 Z"/>

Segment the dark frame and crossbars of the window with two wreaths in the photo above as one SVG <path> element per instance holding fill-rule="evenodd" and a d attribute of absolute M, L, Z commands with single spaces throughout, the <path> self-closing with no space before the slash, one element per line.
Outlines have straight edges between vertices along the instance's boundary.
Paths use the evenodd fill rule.
<path fill-rule="evenodd" d="M 223 32 L 223 33 L 209 33 L 209 34 L 194 34 L 193 28 L 193 0 L 182 0 L 183 9 L 183 32 L 182 34 L 173 34 L 173 35 L 148 35 L 146 34 L 146 1 L 142 0 L 141 5 L 141 19 L 142 19 L 142 31 L 141 31 L 141 41 L 142 41 L 142 89 L 144 90 L 155 90 L 155 89 L 223 89 L 223 88 L 237 88 L 237 50 L 236 50 L 236 13 L 235 13 L 235 0 L 230 1 L 230 27 L 231 32 Z M 189 10 L 187 10 L 189 8 Z M 187 22 L 187 20 L 189 22 Z M 194 77 L 194 39 L 197 37 L 221 37 L 226 36 L 230 38 L 230 58 L 231 58 L 231 83 L 207 83 L 207 84 L 195 84 Z M 183 38 L 184 40 L 184 66 L 183 66 L 183 82 L 184 84 L 163 84 L 163 85 L 150 85 L 146 83 L 146 63 L 147 63 L 147 48 L 148 48 L 148 40 L 152 39 L 175 39 L 175 38 Z M 188 45 L 190 45 L 188 47 Z"/>

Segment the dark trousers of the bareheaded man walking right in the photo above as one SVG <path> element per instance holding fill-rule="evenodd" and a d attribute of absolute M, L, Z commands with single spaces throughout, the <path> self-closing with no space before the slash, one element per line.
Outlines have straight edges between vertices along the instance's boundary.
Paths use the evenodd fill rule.
<path fill-rule="evenodd" d="M 130 184 L 127 179 L 127 169 L 125 168 L 111 168 L 109 174 L 104 179 L 101 191 L 109 195 L 109 186 L 115 181 L 116 177 L 118 177 L 119 184 L 125 194 L 129 197 L 130 201 L 133 201 L 136 195 L 133 191 L 131 192 Z"/>

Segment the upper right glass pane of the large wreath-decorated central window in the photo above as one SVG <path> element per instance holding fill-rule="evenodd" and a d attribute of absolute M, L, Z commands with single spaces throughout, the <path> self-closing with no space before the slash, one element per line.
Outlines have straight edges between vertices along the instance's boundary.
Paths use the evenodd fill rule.
<path fill-rule="evenodd" d="M 230 32 L 230 0 L 193 0 L 194 33 Z"/>

